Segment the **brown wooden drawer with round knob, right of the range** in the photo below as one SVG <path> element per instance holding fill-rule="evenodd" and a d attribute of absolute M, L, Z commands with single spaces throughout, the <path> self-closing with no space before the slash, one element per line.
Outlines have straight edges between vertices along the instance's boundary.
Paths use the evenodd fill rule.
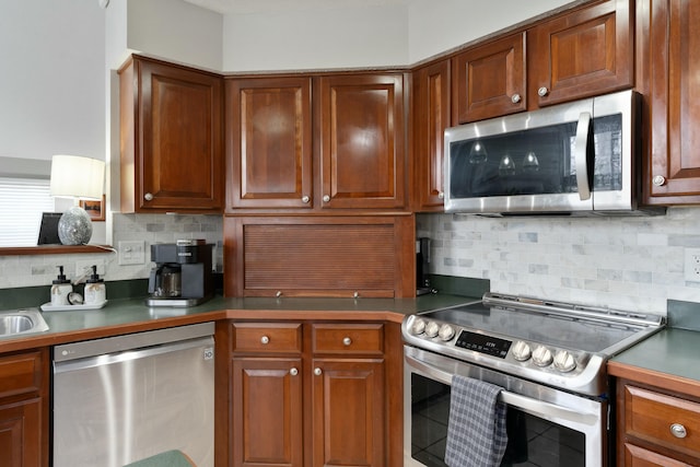
<path fill-rule="evenodd" d="M 625 389 L 628 434 L 678 453 L 700 456 L 700 404 L 634 386 Z"/>

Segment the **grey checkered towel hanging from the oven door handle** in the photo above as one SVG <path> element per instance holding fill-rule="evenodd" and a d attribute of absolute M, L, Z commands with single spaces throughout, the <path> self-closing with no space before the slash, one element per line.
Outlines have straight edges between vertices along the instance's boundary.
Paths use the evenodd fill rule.
<path fill-rule="evenodd" d="M 452 377 L 445 463 L 450 467 L 498 467 L 508 445 L 502 387 Z"/>

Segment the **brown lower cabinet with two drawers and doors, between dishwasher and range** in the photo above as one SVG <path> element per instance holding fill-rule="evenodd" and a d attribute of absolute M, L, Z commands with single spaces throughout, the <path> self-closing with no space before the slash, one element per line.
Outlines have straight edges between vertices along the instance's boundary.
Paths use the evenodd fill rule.
<path fill-rule="evenodd" d="M 233 322 L 230 332 L 229 465 L 401 465 L 397 324 Z"/>

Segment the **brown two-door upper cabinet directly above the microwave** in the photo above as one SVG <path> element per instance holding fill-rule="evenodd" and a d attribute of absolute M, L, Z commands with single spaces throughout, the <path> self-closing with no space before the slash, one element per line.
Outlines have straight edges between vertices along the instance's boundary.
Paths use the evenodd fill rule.
<path fill-rule="evenodd" d="M 633 85 L 633 1 L 584 5 L 453 59 L 453 124 Z"/>

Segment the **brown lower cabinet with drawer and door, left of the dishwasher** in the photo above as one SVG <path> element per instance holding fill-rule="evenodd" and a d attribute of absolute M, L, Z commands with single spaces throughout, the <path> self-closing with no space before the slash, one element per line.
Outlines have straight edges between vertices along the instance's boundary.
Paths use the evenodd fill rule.
<path fill-rule="evenodd" d="M 0 357 L 0 466 L 48 466 L 48 351 Z"/>

